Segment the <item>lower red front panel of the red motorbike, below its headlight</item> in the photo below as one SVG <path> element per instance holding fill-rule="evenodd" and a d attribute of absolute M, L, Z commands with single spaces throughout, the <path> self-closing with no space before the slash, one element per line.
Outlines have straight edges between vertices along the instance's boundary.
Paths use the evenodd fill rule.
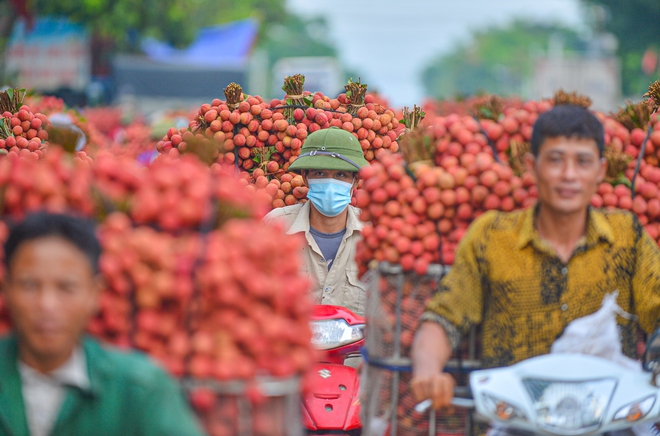
<path fill-rule="evenodd" d="M 358 372 L 350 366 L 330 363 L 315 364 L 312 371 L 312 383 L 303 397 L 303 406 L 313 426 L 306 428 L 324 431 L 360 428 Z"/>

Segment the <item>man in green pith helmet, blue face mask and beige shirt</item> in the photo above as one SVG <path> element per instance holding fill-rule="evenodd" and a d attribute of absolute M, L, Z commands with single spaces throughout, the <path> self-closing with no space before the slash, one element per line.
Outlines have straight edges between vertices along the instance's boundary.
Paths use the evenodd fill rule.
<path fill-rule="evenodd" d="M 357 278 L 355 246 L 362 223 L 359 209 L 350 203 L 357 173 L 367 165 L 351 133 L 336 127 L 312 133 L 289 167 L 302 174 L 309 201 L 275 209 L 265 218 L 282 222 L 289 234 L 304 235 L 302 269 L 315 283 L 314 301 L 360 315 L 364 315 L 365 289 Z"/>

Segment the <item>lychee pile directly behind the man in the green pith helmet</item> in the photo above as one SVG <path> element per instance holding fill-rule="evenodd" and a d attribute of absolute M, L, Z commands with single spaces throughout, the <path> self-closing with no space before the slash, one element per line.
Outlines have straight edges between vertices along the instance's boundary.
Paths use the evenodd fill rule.
<path fill-rule="evenodd" d="M 353 133 L 369 161 L 378 149 L 398 150 L 396 139 L 403 126 L 392 110 L 374 103 L 366 85 L 351 81 L 346 93 L 336 99 L 304 91 L 303 85 L 304 76 L 287 77 L 285 98 L 267 103 L 230 84 L 225 101 L 215 99 L 203 105 L 188 129 L 170 129 L 158 150 L 177 155 L 193 151 L 209 162 L 233 163 L 252 174 L 250 184 L 256 184 L 260 176 L 269 181 L 281 178 L 300 154 L 307 135 L 331 126 Z M 255 175 L 255 169 L 261 171 Z M 282 206 L 277 200 L 288 204 L 275 194 L 271 195 L 275 207 Z M 285 197 L 289 194 L 295 196 L 285 192 Z"/>

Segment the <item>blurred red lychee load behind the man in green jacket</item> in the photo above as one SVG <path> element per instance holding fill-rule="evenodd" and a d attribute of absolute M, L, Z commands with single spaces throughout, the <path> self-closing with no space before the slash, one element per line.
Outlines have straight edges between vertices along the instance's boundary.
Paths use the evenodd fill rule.
<path fill-rule="evenodd" d="M 267 397 L 264 383 L 284 380 L 296 397 L 312 362 L 302 241 L 263 223 L 270 197 L 245 189 L 233 167 L 209 168 L 192 155 L 161 156 L 147 168 L 110 153 L 90 163 L 52 146 L 42 160 L 0 159 L 0 200 L 7 220 L 46 209 L 98 222 L 107 288 L 89 331 L 185 380 L 210 434 L 249 426 L 283 435 L 296 425 L 263 426 L 287 404 L 298 410 Z M 4 222 L 0 230 L 4 240 Z M 3 310 L 0 302 L 6 331 Z"/>

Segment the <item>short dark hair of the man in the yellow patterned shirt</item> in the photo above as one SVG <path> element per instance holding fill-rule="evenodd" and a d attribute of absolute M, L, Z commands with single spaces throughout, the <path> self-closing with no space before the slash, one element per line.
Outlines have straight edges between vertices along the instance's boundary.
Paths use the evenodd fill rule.
<path fill-rule="evenodd" d="M 555 106 L 539 115 L 532 132 L 532 154 L 539 155 L 541 145 L 548 138 L 593 139 L 600 157 L 605 150 L 603 124 L 588 109 L 573 104 Z"/>

